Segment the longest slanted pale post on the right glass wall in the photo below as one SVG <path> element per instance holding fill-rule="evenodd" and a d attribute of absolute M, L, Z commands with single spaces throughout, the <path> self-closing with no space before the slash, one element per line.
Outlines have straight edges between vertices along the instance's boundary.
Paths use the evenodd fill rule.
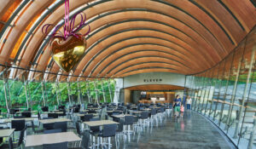
<path fill-rule="evenodd" d="M 247 83 L 246 83 L 245 88 L 243 90 L 241 106 L 240 106 L 239 114 L 238 114 L 238 121 L 236 123 L 235 135 L 233 137 L 234 139 L 236 139 L 237 136 L 238 136 L 238 129 L 239 129 L 239 125 L 241 123 L 241 113 L 242 113 L 242 111 L 244 109 L 244 102 L 245 102 L 245 100 L 247 98 L 246 97 L 247 96 L 247 88 L 248 88 L 248 83 L 250 81 L 250 77 L 251 77 L 251 73 L 252 73 L 252 69 L 253 69 L 253 61 L 254 61 L 255 49 L 256 49 L 256 47 L 253 47 L 252 54 L 251 54 L 251 62 L 250 62 L 249 71 L 248 71 L 248 74 L 247 74 Z"/>

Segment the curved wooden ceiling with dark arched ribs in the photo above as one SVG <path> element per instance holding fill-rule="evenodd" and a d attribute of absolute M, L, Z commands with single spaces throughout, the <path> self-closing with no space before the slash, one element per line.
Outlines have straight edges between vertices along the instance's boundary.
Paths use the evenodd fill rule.
<path fill-rule="evenodd" d="M 2 5 L 0 64 L 59 72 L 41 29 L 47 23 L 63 25 L 64 1 L 9 0 Z M 83 11 L 91 27 L 88 48 L 73 72 L 85 77 L 202 72 L 223 60 L 256 22 L 249 0 L 70 0 L 70 11 Z M 37 74 L 32 76 L 43 77 Z"/>

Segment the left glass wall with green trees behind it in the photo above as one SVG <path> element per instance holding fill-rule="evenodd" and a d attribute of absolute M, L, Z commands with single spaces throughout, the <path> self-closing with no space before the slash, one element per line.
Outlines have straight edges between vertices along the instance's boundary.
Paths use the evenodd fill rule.
<path fill-rule="evenodd" d="M 20 71 L 18 68 L 10 68 L 0 73 L 0 110 L 2 112 L 15 107 L 38 110 L 41 106 L 49 106 L 50 110 L 54 110 L 58 105 L 100 104 L 113 100 L 115 89 L 113 78 L 75 82 L 40 81 L 38 78 L 29 81 L 25 79 L 28 76 L 25 73 L 15 79 L 6 77 L 12 69 L 16 69 L 16 72 Z M 52 76 L 54 74 L 51 74 Z"/>

